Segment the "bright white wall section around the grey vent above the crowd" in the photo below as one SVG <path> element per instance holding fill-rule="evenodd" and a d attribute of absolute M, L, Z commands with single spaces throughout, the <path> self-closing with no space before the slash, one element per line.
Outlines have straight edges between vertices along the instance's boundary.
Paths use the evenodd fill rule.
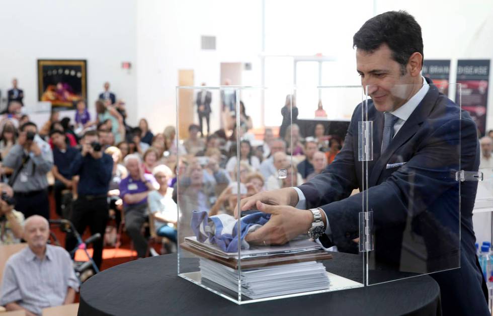
<path fill-rule="evenodd" d="M 252 62 L 242 85 L 260 83 L 260 0 L 142 1 L 137 21 L 137 115 L 154 132 L 176 124 L 178 69 L 194 69 L 195 85 L 217 86 L 221 62 Z M 201 35 L 216 36 L 216 50 L 201 50 Z M 211 119 L 217 127 L 215 99 Z"/>

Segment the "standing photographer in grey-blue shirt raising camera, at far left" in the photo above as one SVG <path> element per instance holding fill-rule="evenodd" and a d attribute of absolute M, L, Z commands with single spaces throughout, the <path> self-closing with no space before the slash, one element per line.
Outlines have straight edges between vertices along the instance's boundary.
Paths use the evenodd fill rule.
<path fill-rule="evenodd" d="M 53 153 L 37 132 L 33 122 L 21 126 L 18 143 L 5 157 L 4 167 L 12 172 L 9 185 L 14 189 L 17 210 L 25 217 L 41 215 L 49 219 L 46 174 L 53 167 Z"/>

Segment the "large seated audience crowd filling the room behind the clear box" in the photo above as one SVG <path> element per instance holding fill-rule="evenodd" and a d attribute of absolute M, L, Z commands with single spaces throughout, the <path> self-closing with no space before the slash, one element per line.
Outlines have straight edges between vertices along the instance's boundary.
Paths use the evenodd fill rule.
<path fill-rule="evenodd" d="M 329 143 L 320 131 L 319 139 L 316 135 L 303 138 L 296 124 L 285 126 L 282 138 L 275 127 L 256 136 L 252 117 L 243 102 L 240 105 L 239 126 L 233 123 L 231 130 L 201 136 L 200 127 L 191 124 L 188 136 L 178 140 L 175 126 L 151 131 L 145 118 L 138 126 L 129 126 L 125 103 L 106 88 L 93 103 L 95 117 L 88 104 L 79 101 L 74 117 L 53 112 L 41 128 L 29 115 L 21 114 L 22 105 L 13 101 L 0 119 L 0 189 L 5 193 L 0 199 L 0 245 L 23 238 L 29 242 L 23 237 L 28 228 L 25 219 L 38 215 L 49 219 L 48 196 L 53 194 L 57 216 L 70 220 L 81 235 L 87 227 L 91 234 L 104 235 L 114 220 L 117 227 L 124 227 L 137 256 L 145 257 L 149 255 L 148 236 L 143 232 L 147 222 L 152 234 L 165 239 L 161 252 L 172 252 L 179 243 L 178 208 L 183 221 L 190 220 L 193 210 L 232 215 L 238 197 L 300 185 L 316 176 L 342 145 L 335 138 Z M 284 177 L 279 176 L 280 170 L 285 170 Z M 4 201 L 9 196 L 15 205 Z M 46 224 L 39 217 L 34 219 L 36 226 Z M 180 234 L 193 235 L 193 231 L 183 225 Z M 98 267 L 104 241 L 93 244 Z M 65 249 L 75 247 L 74 236 L 67 233 Z M 43 249 L 48 257 L 67 254 Z M 38 259 L 44 260 L 43 256 Z M 56 304 L 70 301 L 72 290 L 77 289 L 68 270 L 63 277 L 65 293 L 57 289 Z M 39 311 L 40 306 L 31 306 L 23 297 L 1 295 L 7 300 L 13 297 L 14 304 L 2 301 L 12 308 Z"/>

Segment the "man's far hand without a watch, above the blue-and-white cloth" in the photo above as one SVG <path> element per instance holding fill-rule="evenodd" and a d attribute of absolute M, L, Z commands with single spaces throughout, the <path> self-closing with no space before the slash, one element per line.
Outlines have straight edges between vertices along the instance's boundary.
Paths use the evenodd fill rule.
<path fill-rule="evenodd" d="M 294 207 L 298 204 L 298 193 L 293 188 L 260 192 L 241 199 L 239 202 L 240 210 L 248 211 L 252 208 L 256 208 L 257 201 L 269 205 L 289 205 Z M 234 208 L 234 217 L 238 217 L 238 206 Z"/>

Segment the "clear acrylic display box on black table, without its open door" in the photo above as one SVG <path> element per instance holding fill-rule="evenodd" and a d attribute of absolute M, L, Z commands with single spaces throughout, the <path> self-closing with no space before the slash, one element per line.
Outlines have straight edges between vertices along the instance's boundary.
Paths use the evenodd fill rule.
<path fill-rule="evenodd" d="M 177 188 L 179 275 L 238 304 L 363 286 L 363 253 L 358 251 L 358 214 L 363 204 L 362 199 L 350 197 L 354 189 L 364 187 L 362 163 L 354 161 L 358 126 L 352 132 L 354 140 L 350 136 L 345 142 L 349 121 L 330 117 L 302 121 L 296 115 L 298 106 L 307 107 L 297 102 L 298 93 L 311 93 L 315 99 L 323 95 L 327 110 L 355 109 L 362 99 L 361 87 L 206 88 L 212 103 L 224 104 L 221 113 L 211 115 L 221 115 L 223 121 L 215 134 L 226 135 L 225 139 L 209 137 L 207 142 L 193 136 L 196 128 L 189 127 L 197 122 L 192 112 L 202 104 L 203 90 L 177 89 L 177 138 L 183 147 Z M 341 95 L 346 97 L 341 100 Z M 315 109 L 316 104 L 310 111 Z M 358 109 L 362 117 L 361 106 Z M 270 113 L 277 118 L 269 119 L 279 123 L 265 124 Z M 325 170 L 327 157 L 332 162 L 342 145 L 354 155 L 347 154 Z M 348 160 L 355 164 L 351 170 L 344 167 Z M 309 165 L 313 170 L 306 168 Z M 322 171 L 328 178 L 316 178 Z M 336 181 L 336 174 L 352 181 L 333 195 L 327 182 Z M 308 177 L 314 179 L 304 184 Z M 306 190 L 307 205 L 294 203 L 298 195 L 292 186 Z M 309 195 L 317 186 L 322 199 Z M 339 245 L 339 251 L 327 252 L 309 238 L 314 215 L 308 208 L 332 207 L 346 197 L 356 214 L 348 229 L 351 238 Z M 240 220 L 234 216 L 235 208 Z"/>

